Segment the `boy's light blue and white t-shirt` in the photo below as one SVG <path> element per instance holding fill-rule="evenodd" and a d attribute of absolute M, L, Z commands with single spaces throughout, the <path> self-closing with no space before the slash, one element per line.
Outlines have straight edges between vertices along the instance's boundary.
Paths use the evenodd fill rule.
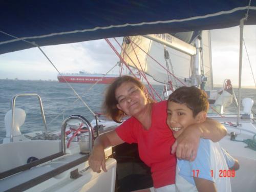
<path fill-rule="evenodd" d="M 220 147 L 218 142 L 200 139 L 195 161 L 177 160 L 177 191 L 197 191 L 194 177 L 215 182 L 218 191 L 231 191 L 230 178 L 220 178 L 219 174 L 223 170 L 230 171 L 228 167 L 233 165 L 234 159 Z"/>

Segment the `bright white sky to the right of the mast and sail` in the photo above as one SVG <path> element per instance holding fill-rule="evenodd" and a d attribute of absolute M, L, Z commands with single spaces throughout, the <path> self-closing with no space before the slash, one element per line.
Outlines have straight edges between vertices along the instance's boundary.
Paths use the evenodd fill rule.
<path fill-rule="evenodd" d="M 245 26 L 244 41 L 256 76 L 256 26 Z M 212 68 L 214 83 L 222 84 L 229 78 L 234 85 L 239 82 L 239 27 L 211 31 Z M 242 84 L 254 86 L 248 57 L 243 48 Z"/>

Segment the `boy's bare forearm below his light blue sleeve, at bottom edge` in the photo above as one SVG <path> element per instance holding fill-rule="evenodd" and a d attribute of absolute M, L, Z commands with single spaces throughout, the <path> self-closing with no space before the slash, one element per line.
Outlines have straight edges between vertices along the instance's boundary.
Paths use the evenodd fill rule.
<path fill-rule="evenodd" d="M 214 182 L 199 177 L 194 177 L 197 190 L 199 192 L 217 192 L 217 188 Z"/>

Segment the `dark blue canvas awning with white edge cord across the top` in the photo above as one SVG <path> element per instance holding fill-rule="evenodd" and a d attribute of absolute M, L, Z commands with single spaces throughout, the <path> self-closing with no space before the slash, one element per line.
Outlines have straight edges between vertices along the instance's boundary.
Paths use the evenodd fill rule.
<path fill-rule="evenodd" d="M 0 54 L 106 37 L 256 24 L 256 0 L 60 1 L 0 3 Z"/>

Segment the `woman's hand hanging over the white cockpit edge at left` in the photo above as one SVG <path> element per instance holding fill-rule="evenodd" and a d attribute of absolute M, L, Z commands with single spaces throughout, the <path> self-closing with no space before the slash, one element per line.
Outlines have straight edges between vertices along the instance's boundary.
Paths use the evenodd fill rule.
<path fill-rule="evenodd" d="M 102 170 L 104 172 L 107 172 L 104 148 L 102 148 L 101 146 L 93 147 L 92 153 L 89 157 L 89 166 L 91 167 L 93 172 L 100 173 L 100 166 L 102 167 Z"/>

